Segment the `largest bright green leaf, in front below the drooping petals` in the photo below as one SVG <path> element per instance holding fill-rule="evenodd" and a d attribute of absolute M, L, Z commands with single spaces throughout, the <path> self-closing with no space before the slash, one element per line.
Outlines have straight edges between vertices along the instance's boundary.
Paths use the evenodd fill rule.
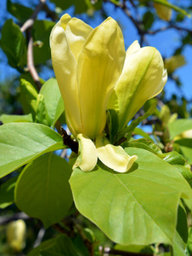
<path fill-rule="evenodd" d="M 74 170 L 70 183 L 76 208 L 122 245 L 172 244 L 179 198 L 191 196 L 189 183 L 155 154 L 141 148 L 126 151 L 138 155 L 129 173 L 101 164 L 93 172 Z"/>

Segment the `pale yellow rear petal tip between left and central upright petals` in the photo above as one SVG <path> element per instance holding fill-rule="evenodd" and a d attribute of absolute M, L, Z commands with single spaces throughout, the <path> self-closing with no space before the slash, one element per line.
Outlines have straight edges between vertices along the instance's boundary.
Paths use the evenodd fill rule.
<path fill-rule="evenodd" d="M 84 23 L 82 20 L 76 18 L 72 18 L 67 24 L 65 33 L 76 61 L 82 51 L 85 40 L 92 31 L 93 28 L 91 26 L 88 26 L 88 24 Z"/>

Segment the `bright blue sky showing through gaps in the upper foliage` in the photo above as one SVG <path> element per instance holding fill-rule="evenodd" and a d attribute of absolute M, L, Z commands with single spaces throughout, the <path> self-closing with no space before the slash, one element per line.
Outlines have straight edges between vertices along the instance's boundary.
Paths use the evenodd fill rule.
<path fill-rule="evenodd" d="M 190 0 L 182 0 L 182 4 L 189 3 Z M 14 0 L 14 3 L 24 3 L 27 6 L 30 6 L 31 3 L 33 6 L 36 6 L 38 1 L 23 1 L 23 0 Z M 175 0 L 169 2 L 172 3 L 179 3 L 180 1 Z M 49 1 L 48 1 L 49 3 Z M 49 4 L 52 8 L 54 8 L 54 4 Z M 139 40 L 139 36 L 137 33 L 137 30 L 133 26 L 133 23 L 127 18 L 127 16 L 124 14 L 124 12 L 121 9 L 115 9 L 114 5 L 111 3 L 104 3 L 104 10 L 106 11 L 107 15 L 110 15 L 112 18 L 117 20 L 122 28 L 122 32 L 124 35 L 125 40 L 125 46 L 127 47 L 133 43 L 134 40 Z M 70 15 L 73 15 L 73 8 L 68 9 L 67 12 Z M 140 14 L 142 15 L 144 13 L 144 9 L 139 10 Z M 173 15 L 177 15 L 177 12 L 173 11 Z M 4 20 L 7 20 L 9 18 L 12 18 L 11 15 L 9 15 L 6 11 L 6 0 L 0 1 L 0 26 L 3 26 Z M 88 18 L 87 15 L 76 15 L 78 18 L 82 18 L 82 20 L 89 23 L 90 26 L 99 26 L 99 24 L 103 21 L 101 15 L 97 12 L 95 14 L 94 19 Z M 43 19 L 44 15 L 40 14 L 38 15 L 38 19 Z M 154 29 L 161 26 L 167 26 L 167 22 L 163 20 L 159 20 L 155 22 Z M 181 22 L 179 26 L 188 27 L 189 29 L 192 29 L 192 20 L 187 18 L 184 19 L 184 22 Z M 148 41 L 148 44 L 150 46 L 154 46 L 156 49 L 158 49 L 161 52 L 161 55 L 164 57 L 169 57 L 173 54 L 175 49 L 178 48 L 179 44 L 179 37 L 181 37 L 181 33 L 177 32 L 174 29 L 169 29 L 166 32 L 159 32 L 155 34 L 155 36 L 147 36 L 146 39 Z M 187 61 L 187 64 L 184 67 L 178 68 L 178 70 L 175 72 L 175 75 L 178 75 L 179 78 L 182 81 L 183 87 L 182 91 L 184 96 L 187 100 L 192 99 L 192 45 L 185 47 L 184 49 L 184 57 Z M 15 75 L 16 72 L 13 68 L 8 67 L 8 61 L 6 56 L 3 54 L 3 51 L 0 50 L 0 81 L 6 78 L 10 78 L 13 75 Z M 48 76 L 42 73 L 42 77 L 44 76 L 45 79 L 48 79 Z M 177 89 L 174 82 L 168 81 L 167 85 L 165 87 L 165 90 L 167 91 L 167 96 L 171 96 L 172 93 L 179 94 L 181 96 L 181 91 Z"/>

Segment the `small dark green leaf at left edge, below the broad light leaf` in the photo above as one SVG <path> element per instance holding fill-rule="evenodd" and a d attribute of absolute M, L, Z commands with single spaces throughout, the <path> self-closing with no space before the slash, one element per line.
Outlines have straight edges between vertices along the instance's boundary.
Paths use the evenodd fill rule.
<path fill-rule="evenodd" d="M 0 208 L 6 208 L 14 203 L 14 186 L 18 177 L 11 177 L 0 187 Z"/>

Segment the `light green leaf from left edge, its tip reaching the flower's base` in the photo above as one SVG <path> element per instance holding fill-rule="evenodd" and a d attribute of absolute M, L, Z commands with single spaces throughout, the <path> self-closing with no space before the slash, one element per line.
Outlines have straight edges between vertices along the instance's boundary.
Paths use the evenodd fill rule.
<path fill-rule="evenodd" d="M 65 148 L 62 137 L 48 126 L 9 123 L 0 126 L 0 177 L 41 154 Z"/>

